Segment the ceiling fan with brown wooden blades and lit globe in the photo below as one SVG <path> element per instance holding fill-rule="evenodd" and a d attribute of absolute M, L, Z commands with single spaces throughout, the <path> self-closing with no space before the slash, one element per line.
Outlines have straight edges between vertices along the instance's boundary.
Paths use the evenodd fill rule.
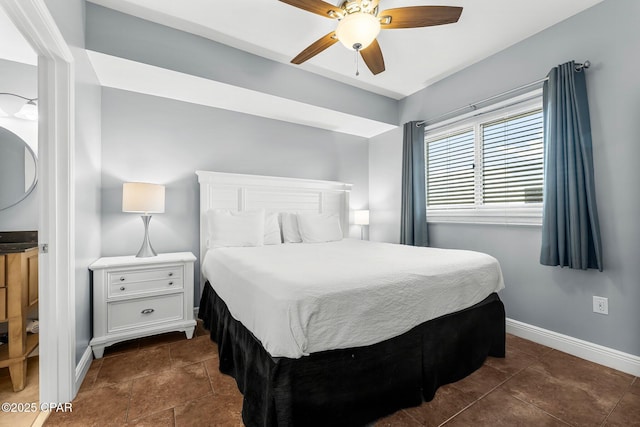
<path fill-rule="evenodd" d="M 280 1 L 339 21 L 335 31 L 311 43 L 291 60 L 293 64 L 302 64 L 340 41 L 347 49 L 355 50 L 356 55 L 360 53 L 374 75 L 385 69 L 382 50 L 376 40 L 380 30 L 451 24 L 462 14 L 461 7 L 451 6 L 410 6 L 380 12 L 380 0 L 345 0 L 340 6 L 322 0 Z"/>

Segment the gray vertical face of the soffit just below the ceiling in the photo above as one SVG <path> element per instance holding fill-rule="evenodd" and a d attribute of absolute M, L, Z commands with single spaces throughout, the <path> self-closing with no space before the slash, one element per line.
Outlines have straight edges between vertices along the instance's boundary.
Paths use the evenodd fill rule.
<path fill-rule="evenodd" d="M 397 124 L 398 101 L 288 64 L 87 5 L 87 49 L 335 111 Z"/>

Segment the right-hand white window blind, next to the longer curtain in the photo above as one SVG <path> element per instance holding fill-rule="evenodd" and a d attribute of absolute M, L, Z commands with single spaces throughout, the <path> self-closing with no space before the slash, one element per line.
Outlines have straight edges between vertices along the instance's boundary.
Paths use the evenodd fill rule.
<path fill-rule="evenodd" d="M 483 204 L 541 203 L 542 110 L 482 124 L 481 134 Z"/>

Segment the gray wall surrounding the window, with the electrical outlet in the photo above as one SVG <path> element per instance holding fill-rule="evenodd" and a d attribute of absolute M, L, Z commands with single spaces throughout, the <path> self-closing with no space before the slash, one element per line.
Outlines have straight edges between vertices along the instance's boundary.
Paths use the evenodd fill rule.
<path fill-rule="evenodd" d="M 508 317 L 634 355 L 640 355 L 638 16 L 640 2 L 605 0 L 406 98 L 400 111 L 401 122 L 428 119 L 538 80 L 557 64 L 591 60 L 587 85 L 604 272 L 541 266 L 540 227 L 430 224 L 429 232 L 433 246 L 475 249 L 500 260 Z M 374 138 L 370 147 L 372 209 L 396 212 L 392 218 L 399 199 L 378 197 L 377 183 L 395 179 L 399 191 L 401 150 L 398 132 Z M 372 219 L 371 228 L 372 238 L 381 240 L 398 233 L 393 219 Z M 609 298 L 608 316 L 592 312 L 593 295 Z"/>

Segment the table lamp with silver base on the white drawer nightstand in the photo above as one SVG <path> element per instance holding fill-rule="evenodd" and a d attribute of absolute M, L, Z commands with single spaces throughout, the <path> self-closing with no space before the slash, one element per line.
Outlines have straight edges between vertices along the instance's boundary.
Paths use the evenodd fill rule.
<path fill-rule="evenodd" d="M 152 213 L 164 212 L 164 185 L 146 182 L 125 182 L 122 184 L 122 212 L 141 213 L 144 223 L 144 240 L 136 257 L 153 257 L 156 251 L 149 241 L 149 221 Z"/>

